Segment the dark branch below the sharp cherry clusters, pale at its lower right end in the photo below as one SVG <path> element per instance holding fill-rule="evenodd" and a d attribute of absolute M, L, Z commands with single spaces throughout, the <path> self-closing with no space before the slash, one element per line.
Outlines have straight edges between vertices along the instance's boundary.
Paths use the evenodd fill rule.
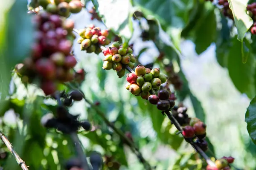
<path fill-rule="evenodd" d="M 177 128 L 177 130 L 179 131 L 183 131 L 182 127 L 180 126 L 180 124 L 177 122 L 177 120 L 175 119 L 175 117 L 172 115 L 172 113 L 170 113 L 169 111 L 165 111 L 166 115 L 168 116 L 168 118 L 171 120 L 171 122 L 173 123 L 173 125 L 175 125 L 175 127 Z M 184 136 L 183 136 L 184 137 Z M 210 166 L 215 166 L 215 163 L 207 156 L 206 153 L 204 153 L 204 151 L 197 145 L 195 144 L 195 142 L 193 142 L 192 139 L 186 139 L 186 142 L 188 142 L 189 144 L 192 145 L 192 147 L 195 149 L 195 151 L 197 153 L 199 153 L 199 155 L 201 155 L 205 161 L 207 162 L 207 164 L 209 164 Z"/>

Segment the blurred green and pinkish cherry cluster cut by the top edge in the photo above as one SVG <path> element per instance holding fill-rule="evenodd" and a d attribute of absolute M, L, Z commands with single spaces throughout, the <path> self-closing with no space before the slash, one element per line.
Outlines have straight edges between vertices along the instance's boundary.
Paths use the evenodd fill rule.
<path fill-rule="evenodd" d="M 69 17 L 71 13 L 79 13 L 84 7 L 80 0 L 32 0 L 29 6 L 32 8 L 42 6 L 47 12 L 63 17 Z"/>

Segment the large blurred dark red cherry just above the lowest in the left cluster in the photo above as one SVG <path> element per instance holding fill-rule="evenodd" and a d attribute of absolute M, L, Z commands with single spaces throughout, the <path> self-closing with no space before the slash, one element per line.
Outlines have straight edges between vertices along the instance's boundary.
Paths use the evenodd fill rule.
<path fill-rule="evenodd" d="M 41 58 L 35 63 L 38 73 L 47 79 L 54 79 L 55 77 L 55 65 L 50 59 Z"/>

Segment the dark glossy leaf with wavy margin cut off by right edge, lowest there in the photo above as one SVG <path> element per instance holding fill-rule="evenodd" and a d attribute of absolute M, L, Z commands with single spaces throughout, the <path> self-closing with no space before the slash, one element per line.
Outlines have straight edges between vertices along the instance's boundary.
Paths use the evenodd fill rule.
<path fill-rule="evenodd" d="M 247 123 L 248 133 L 254 144 L 256 144 L 256 96 L 254 96 L 247 108 L 245 122 Z"/>

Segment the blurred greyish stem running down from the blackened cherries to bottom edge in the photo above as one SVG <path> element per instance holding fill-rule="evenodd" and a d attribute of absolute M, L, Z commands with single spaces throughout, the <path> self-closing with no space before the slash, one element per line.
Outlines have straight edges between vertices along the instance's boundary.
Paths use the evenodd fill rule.
<path fill-rule="evenodd" d="M 80 140 L 79 140 L 77 134 L 76 133 L 70 133 L 70 137 L 71 137 L 71 139 L 73 140 L 73 142 L 75 144 L 76 152 L 77 152 L 78 157 L 81 161 L 83 170 L 91 170 L 89 165 L 88 165 L 87 159 L 86 159 L 86 154 L 83 152 L 83 148 L 81 147 Z"/>

